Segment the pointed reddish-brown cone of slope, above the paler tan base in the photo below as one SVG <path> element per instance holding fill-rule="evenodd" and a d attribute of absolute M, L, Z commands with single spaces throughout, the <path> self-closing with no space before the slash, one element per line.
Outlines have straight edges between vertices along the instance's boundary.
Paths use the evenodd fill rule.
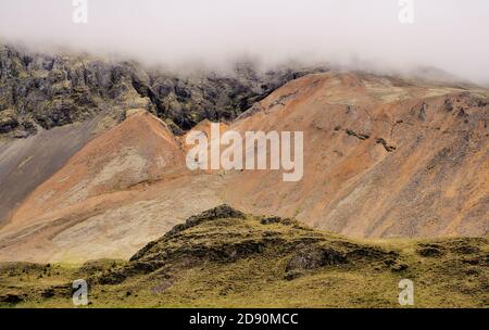
<path fill-rule="evenodd" d="M 128 114 L 118 125 L 89 142 L 68 163 L 39 186 L 11 223 L 28 223 L 110 192 L 159 180 L 179 172 L 179 143 L 158 118 L 146 111 Z M 100 201 L 98 201 L 100 202 Z"/>

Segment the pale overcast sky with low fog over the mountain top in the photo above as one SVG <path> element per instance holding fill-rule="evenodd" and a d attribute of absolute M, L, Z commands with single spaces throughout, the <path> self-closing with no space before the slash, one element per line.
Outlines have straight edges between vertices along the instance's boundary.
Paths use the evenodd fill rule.
<path fill-rule="evenodd" d="M 0 38 L 165 64 L 250 55 L 434 65 L 489 82 L 488 0 L 413 0 L 413 24 L 400 23 L 399 0 L 87 1 L 87 24 L 75 24 L 72 0 L 0 0 Z"/>

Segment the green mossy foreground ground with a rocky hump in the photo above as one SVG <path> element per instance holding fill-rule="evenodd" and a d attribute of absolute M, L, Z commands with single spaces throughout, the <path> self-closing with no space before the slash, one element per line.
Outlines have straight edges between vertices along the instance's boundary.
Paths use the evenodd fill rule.
<path fill-rule="evenodd" d="M 489 307 L 487 238 L 361 242 L 291 219 L 220 206 L 176 226 L 130 261 L 82 266 L 0 264 L 0 306 L 73 307 Z"/>

